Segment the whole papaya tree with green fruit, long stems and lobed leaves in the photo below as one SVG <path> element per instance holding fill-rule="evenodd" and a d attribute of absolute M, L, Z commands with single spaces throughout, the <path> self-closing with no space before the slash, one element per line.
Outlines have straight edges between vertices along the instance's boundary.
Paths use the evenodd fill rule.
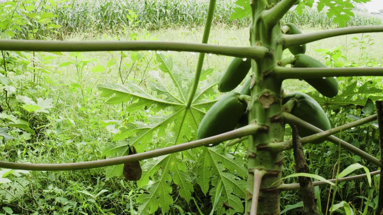
<path fill-rule="evenodd" d="M 383 26 L 343 28 L 345 21 L 352 15 L 349 1 L 321 0 L 318 2 L 318 9 L 329 7 L 327 14 L 334 16 L 334 22 L 340 28 L 302 33 L 294 24 L 281 25 L 280 20 L 294 5 L 297 5 L 296 10 L 299 11 L 304 5 L 312 6 L 313 0 L 240 0 L 243 8 L 236 10 L 234 16 L 251 15 L 250 46 L 217 46 L 207 44 L 215 2 L 210 0 L 201 44 L 1 40 L 0 49 L 10 51 L 155 50 L 160 70 L 170 77 L 171 83 L 165 83 L 158 71 L 152 71 L 149 86 L 157 92 L 155 96 L 146 93 L 141 86 L 134 83 L 122 85 L 106 82 L 98 85 L 102 91 L 101 96 L 109 98 L 107 104 L 131 102 L 127 107 L 129 112 L 144 107 L 157 112 L 157 115 L 149 118 L 149 124 L 126 122 L 119 128 L 119 132 L 113 137 L 113 143 L 104 151 L 107 156 L 119 155 L 116 158 L 62 164 L 0 161 L 0 167 L 66 171 L 108 166 L 108 176 L 124 174 L 129 180 L 137 181 L 139 187 L 147 187 L 150 178 L 148 192 L 137 198 L 137 202 L 141 204 L 138 213 L 148 214 L 159 208 L 163 213 L 170 209 L 173 198 L 170 195 L 172 187 L 169 181 L 177 184 L 182 198 L 191 200 L 192 179 L 182 162 L 182 159 L 190 159 L 197 161 L 196 182 L 204 194 L 209 191 L 214 202 L 213 211 L 218 214 L 244 212 L 250 215 L 277 215 L 281 212 L 280 192 L 299 189 L 299 186 L 283 183 L 283 151 L 294 148 L 294 153 L 297 153 L 296 162 L 300 160 L 303 164 L 300 169 L 304 169 L 304 159 L 298 155 L 300 144 L 318 144 L 328 140 L 373 165 L 382 166 L 375 156 L 332 136 L 342 130 L 374 121 L 376 115 L 331 128 L 326 113 L 313 98 L 299 92 L 287 93 L 282 83 L 286 79 L 302 79 L 322 96 L 336 98 L 339 86 L 335 77 L 383 76 L 381 67 L 327 68 L 319 60 L 306 55 L 306 44 L 309 42 L 346 34 L 383 32 Z M 289 49 L 294 57 L 283 59 L 282 52 L 285 49 Z M 172 59 L 165 57 L 161 51 L 200 52 L 195 72 L 175 67 Z M 227 55 L 233 59 L 227 69 L 216 77 L 211 75 L 213 69 L 202 68 L 206 54 Z M 242 81 L 245 81 L 244 85 L 237 90 Z M 217 85 L 224 95 L 216 96 Z M 293 130 L 293 139 L 290 141 L 285 141 L 286 124 L 290 124 Z M 160 149 L 145 151 L 147 142 L 151 142 L 154 135 L 164 137 L 165 143 Z M 222 152 L 222 143 L 232 140 L 226 142 L 229 147 L 244 139 L 248 141 L 247 164 Z M 180 151 L 183 156 L 179 156 Z M 137 163 L 155 157 L 155 160 L 143 163 L 142 169 Z M 306 171 L 299 176 L 312 175 Z M 326 179 L 317 178 L 333 184 Z M 306 182 L 313 185 L 311 181 Z M 213 188 L 210 189 L 209 184 Z M 309 191 L 310 186 L 302 187 L 302 191 Z M 303 198 L 304 210 L 315 214 L 315 201 L 311 199 L 312 204 L 305 201 L 311 197 Z M 241 198 L 245 200 L 245 207 Z"/>

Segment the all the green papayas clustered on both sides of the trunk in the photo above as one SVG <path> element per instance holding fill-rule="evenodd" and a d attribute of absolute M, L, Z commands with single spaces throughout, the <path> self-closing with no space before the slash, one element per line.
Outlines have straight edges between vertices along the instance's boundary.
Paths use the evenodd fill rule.
<path fill-rule="evenodd" d="M 301 34 L 300 29 L 292 23 L 287 23 L 281 28 L 282 34 Z M 320 68 L 326 67 L 319 60 L 305 54 L 306 44 L 288 48 L 293 54 L 291 63 L 293 68 Z M 197 130 L 197 138 L 207 138 L 223 134 L 249 124 L 247 116 L 247 103 L 241 95 L 250 96 L 251 77 L 248 77 L 239 92 L 233 91 L 246 78 L 251 68 L 251 59 L 235 57 L 218 81 L 218 90 L 222 96 L 203 117 Z M 339 86 L 336 78 L 306 78 L 303 79 L 313 86 L 319 93 L 328 98 L 338 94 Z M 289 108 L 290 107 L 290 108 Z M 282 110 L 308 122 L 321 130 L 331 129 L 330 121 L 322 107 L 313 98 L 301 92 L 284 93 Z M 304 127 L 297 126 L 300 137 L 307 137 L 314 133 Z M 321 143 L 317 140 L 312 143 Z M 215 144 L 218 145 L 219 143 Z M 213 147 L 215 145 L 209 145 Z"/>

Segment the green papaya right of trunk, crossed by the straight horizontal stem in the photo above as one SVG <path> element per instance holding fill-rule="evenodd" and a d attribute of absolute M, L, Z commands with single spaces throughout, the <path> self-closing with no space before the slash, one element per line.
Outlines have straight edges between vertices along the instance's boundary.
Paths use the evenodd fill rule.
<path fill-rule="evenodd" d="M 293 68 L 326 68 L 319 60 L 305 54 L 295 55 L 295 60 L 291 64 Z M 319 93 L 328 98 L 335 97 L 339 92 L 338 81 L 334 77 L 327 78 L 305 78 L 303 79 L 313 86 Z"/>

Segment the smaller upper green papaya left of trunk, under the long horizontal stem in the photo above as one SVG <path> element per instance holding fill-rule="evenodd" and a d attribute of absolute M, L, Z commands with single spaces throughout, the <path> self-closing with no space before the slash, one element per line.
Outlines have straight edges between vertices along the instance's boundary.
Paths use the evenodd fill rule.
<path fill-rule="evenodd" d="M 250 58 L 243 60 L 240 57 L 234 57 L 218 81 L 218 90 L 223 93 L 234 90 L 245 79 L 250 68 Z"/>

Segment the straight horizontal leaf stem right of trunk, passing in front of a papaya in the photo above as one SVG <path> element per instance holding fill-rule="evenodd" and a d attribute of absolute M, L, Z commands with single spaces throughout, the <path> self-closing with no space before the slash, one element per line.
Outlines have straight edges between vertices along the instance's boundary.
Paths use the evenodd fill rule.
<path fill-rule="evenodd" d="M 291 68 L 275 66 L 268 73 L 286 80 L 295 78 L 383 76 L 383 67 L 345 67 L 345 68 Z"/>

